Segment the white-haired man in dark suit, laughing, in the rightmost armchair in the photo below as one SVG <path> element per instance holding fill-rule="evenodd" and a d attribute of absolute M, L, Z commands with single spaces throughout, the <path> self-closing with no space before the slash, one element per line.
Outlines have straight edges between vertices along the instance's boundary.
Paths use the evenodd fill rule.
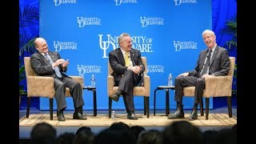
<path fill-rule="evenodd" d="M 200 102 L 203 90 L 206 86 L 205 78 L 225 76 L 230 70 L 230 57 L 228 50 L 217 45 L 214 31 L 204 30 L 202 32 L 202 38 L 207 49 L 201 51 L 194 70 L 179 74 L 178 77 L 175 78 L 174 100 L 177 102 L 177 110 L 174 114 L 170 114 L 168 116 L 169 119 L 184 118 L 182 96 L 183 87 L 187 86 L 195 86 L 194 107 L 189 120 L 197 119 L 198 102 Z"/>

